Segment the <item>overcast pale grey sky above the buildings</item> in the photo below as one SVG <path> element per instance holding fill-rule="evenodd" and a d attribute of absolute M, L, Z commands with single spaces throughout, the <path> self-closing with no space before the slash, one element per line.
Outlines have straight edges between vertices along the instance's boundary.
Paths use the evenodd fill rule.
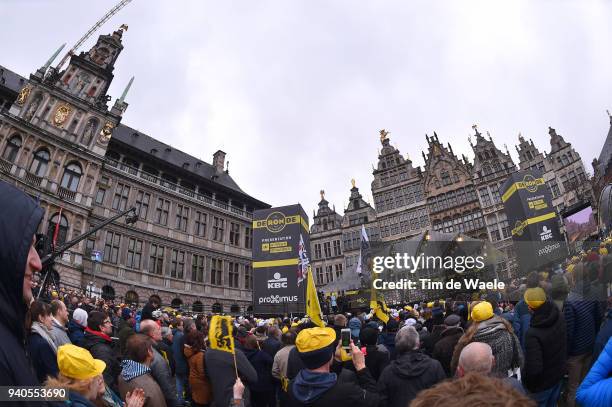
<path fill-rule="evenodd" d="M 29 75 L 117 1 L 0 0 L 0 64 Z M 425 133 L 473 157 L 476 123 L 513 158 L 548 126 L 591 161 L 612 110 L 610 1 L 134 0 L 110 88 L 136 76 L 123 123 L 207 162 L 227 153 L 272 205 L 319 190 L 343 212 L 350 179 L 372 202 L 378 131 L 423 165 Z"/>

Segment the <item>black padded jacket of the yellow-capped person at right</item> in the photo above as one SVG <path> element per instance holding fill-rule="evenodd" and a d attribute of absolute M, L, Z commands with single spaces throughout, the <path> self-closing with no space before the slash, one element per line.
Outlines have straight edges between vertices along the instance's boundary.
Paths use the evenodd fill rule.
<path fill-rule="evenodd" d="M 531 316 L 525 335 L 523 383 L 534 393 L 559 383 L 565 372 L 567 341 L 559 308 L 546 301 Z"/>

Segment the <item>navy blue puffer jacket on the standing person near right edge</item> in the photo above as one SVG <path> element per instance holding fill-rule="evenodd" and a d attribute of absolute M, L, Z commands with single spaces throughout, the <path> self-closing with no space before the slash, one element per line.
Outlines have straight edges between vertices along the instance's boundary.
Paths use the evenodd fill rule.
<path fill-rule="evenodd" d="M 601 323 L 601 314 L 597 301 L 579 294 L 582 285 L 576 284 L 575 291 L 567 296 L 563 306 L 565 323 L 567 324 L 567 354 L 568 356 L 592 353 L 595 337 Z"/>

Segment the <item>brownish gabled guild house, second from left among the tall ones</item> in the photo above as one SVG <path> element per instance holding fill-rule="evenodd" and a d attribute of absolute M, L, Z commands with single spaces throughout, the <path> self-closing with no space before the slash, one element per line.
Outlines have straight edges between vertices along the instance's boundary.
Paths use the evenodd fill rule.
<path fill-rule="evenodd" d="M 480 202 L 472 181 L 472 166 L 465 156 L 460 160 L 450 144 L 444 147 L 438 135 L 425 136 L 425 196 L 432 229 L 444 233 L 465 233 L 486 239 Z"/>

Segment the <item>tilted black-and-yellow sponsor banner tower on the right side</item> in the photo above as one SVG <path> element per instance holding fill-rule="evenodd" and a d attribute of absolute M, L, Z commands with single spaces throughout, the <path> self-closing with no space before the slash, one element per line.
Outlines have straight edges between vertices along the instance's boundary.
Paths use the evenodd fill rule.
<path fill-rule="evenodd" d="M 538 170 L 518 171 L 502 187 L 502 202 L 512 230 L 518 275 L 524 276 L 567 256 L 559 215 Z"/>

